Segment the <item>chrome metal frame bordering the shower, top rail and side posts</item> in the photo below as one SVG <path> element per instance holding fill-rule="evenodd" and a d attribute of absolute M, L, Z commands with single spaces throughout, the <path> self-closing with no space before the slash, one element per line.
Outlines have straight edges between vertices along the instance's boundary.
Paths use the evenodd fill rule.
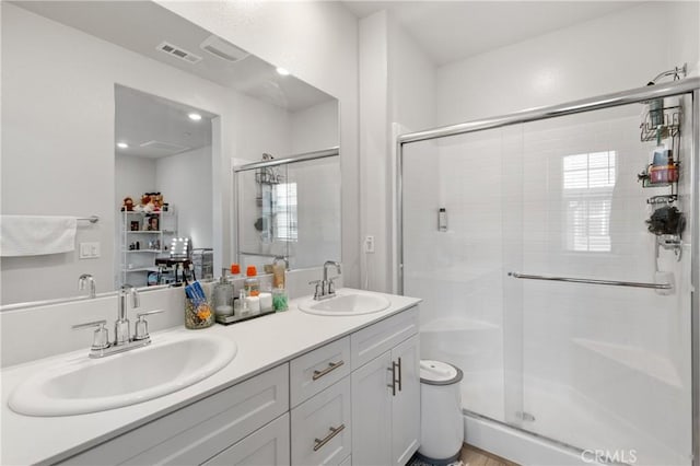
<path fill-rule="evenodd" d="M 690 298 L 690 325 L 691 325 L 691 397 L 692 397 L 692 465 L 700 466 L 700 78 L 687 78 L 664 84 L 646 85 L 628 91 L 605 94 L 597 97 L 584 98 L 565 104 L 539 107 L 516 112 L 509 115 L 497 116 L 480 120 L 444 126 L 424 131 L 401 135 L 396 141 L 396 283 L 397 292 L 404 293 L 404 205 L 402 205 L 402 166 L 404 144 L 447 136 L 466 135 L 487 129 L 501 128 L 529 121 L 556 118 L 565 115 L 575 115 L 585 112 L 604 108 L 619 107 L 628 104 L 643 103 L 654 98 L 672 97 L 689 94 L 692 98 L 692 142 L 690 156 L 687 159 L 691 175 L 691 298 Z M 555 443 L 557 443 L 555 441 Z"/>

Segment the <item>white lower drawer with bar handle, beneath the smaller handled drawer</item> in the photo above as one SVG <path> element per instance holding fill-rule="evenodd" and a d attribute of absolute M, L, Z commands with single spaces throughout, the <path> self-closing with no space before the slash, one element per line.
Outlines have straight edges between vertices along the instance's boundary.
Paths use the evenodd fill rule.
<path fill-rule="evenodd" d="M 292 465 L 339 465 L 352 448 L 350 377 L 292 409 Z"/>

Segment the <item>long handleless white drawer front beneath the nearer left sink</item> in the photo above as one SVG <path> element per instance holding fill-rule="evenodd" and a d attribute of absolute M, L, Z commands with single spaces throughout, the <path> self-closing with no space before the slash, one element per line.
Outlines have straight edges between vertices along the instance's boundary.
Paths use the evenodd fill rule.
<path fill-rule="evenodd" d="M 282 364 L 65 464 L 200 464 L 288 409 L 289 366 Z"/>

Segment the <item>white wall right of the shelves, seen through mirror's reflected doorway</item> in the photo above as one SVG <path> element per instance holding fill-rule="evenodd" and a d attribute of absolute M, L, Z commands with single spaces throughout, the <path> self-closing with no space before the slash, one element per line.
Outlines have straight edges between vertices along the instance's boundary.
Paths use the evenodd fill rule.
<path fill-rule="evenodd" d="M 155 190 L 176 209 L 177 235 L 189 237 L 192 248 L 214 246 L 211 182 L 211 145 L 156 162 Z"/>

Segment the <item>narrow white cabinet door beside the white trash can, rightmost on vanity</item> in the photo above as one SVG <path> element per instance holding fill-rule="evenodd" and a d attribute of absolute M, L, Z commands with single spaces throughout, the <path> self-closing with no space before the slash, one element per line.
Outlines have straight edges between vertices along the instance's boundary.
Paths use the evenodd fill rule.
<path fill-rule="evenodd" d="M 392 397 L 390 464 L 393 465 L 405 465 L 416 453 L 420 442 L 420 352 L 418 341 L 418 335 L 415 335 L 392 349 L 392 360 L 399 368 L 396 396 Z"/>

